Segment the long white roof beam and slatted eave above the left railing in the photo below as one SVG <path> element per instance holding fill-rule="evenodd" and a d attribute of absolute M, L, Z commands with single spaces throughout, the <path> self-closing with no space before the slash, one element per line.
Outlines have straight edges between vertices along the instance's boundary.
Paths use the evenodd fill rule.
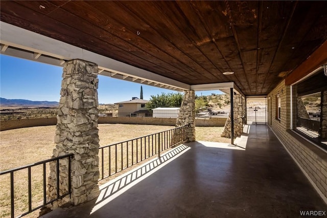
<path fill-rule="evenodd" d="M 100 75 L 133 82 L 147 81 L 152 86 L 176 91 L 191 86 L 129 64 L 81 49 L 68 43 L 0 21 L 1 54 L 62 66 L 65 60 L 82 59 L 98 64 Z"/>

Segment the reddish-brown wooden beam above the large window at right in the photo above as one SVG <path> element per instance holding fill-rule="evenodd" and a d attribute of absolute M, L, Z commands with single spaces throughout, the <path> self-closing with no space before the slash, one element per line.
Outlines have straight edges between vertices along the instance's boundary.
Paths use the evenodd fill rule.
<path fill-rule="evenodd" d="M 286 85 L 292 85 L 327 63 L 327 40 L 312 55 L 285 78 Z"/>

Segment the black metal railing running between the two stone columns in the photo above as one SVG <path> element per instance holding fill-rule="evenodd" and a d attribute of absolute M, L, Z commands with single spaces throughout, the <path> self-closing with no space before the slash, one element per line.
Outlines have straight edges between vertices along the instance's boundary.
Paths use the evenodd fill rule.
<path fill-rule="evenodd" d="M 100 179 L 144 161 L 170 147 L 188 140 L 189 125 L 168 129 L 99 148 Z"/>

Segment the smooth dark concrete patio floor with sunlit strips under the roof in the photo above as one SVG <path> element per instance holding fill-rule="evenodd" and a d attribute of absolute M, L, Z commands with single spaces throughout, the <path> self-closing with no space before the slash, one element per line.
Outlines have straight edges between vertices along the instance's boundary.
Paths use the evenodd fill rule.
<path fill-rule="evenodd" d="M 238 146 L 185 143 L 100 187 L 97 200 L 42 217 L 299 217 L 327 210 L 269 127 Z M 246 141 L 247 139 L 247 141 Z"/>

